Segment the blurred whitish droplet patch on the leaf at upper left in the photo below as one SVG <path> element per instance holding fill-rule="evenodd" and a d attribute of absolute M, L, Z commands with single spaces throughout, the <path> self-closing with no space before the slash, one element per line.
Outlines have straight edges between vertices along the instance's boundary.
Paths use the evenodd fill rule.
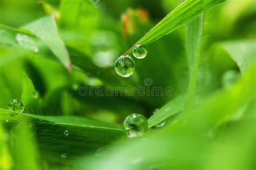
<path fill-rule="evenodd" d="M 33 52 L 38 52 L 38 48 L 36 46 L 35 41 L 29 36 L 18 33 L 16 35 L 16 40 L 19 46 L 24 47 L 25 49 L 31 50 Z"/>

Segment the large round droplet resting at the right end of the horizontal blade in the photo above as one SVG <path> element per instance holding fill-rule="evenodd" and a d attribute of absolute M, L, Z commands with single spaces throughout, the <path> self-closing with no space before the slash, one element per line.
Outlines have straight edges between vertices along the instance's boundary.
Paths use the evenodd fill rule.
<path fill-rule="evenodd" d="M 127 116 L 124 120 L 124 127 L 129 138 L 139 137 L 143 135 L 149 124 L 144 115 L 133 113 Z"/>

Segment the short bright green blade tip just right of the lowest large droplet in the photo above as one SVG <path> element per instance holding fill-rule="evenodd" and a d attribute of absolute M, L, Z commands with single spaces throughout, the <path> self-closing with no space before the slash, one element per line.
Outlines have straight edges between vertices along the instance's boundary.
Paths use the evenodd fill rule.
<path fill-rule="evenodd" d="M 161 107 L 156 113 L 152 115 L 152 117 L 149 118 L 149 127 L 153 127 L 154 125 L 159 124 L 161 121 L 182 111 L 184 107 L 184 99 L 184 96 L 179 96 Z"/>

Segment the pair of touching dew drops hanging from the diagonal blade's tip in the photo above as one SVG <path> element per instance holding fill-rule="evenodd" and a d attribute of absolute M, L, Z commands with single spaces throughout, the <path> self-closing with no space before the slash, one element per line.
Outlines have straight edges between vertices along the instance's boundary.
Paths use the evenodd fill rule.
<path fill-rule="evenodd" d="M 143 44 L 137 44 L 132 53 L 134 57 L 143 59 L 147 55 L 147 50 Z M 130 77 L 135 70 L 135 63 L 129 55 L 122 55 L 116 60 L 114 70 L 121 77 Z"/>

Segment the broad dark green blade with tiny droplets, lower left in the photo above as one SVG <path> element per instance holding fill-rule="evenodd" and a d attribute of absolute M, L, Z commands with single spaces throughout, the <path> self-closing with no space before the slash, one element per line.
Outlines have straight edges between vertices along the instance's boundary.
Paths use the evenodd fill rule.
<path fill-rule="evenodd" d="M 0 109 L 0 122 L 13 123 L 27 119 L 36 136 L 41 156 L 68 164 L 82 155 L 94 154 L 99 147 L 105 147 L 114 140 L 125 138 L 125 131 L 119 125 L 79 117 L 52 117 L 28 113 L 17 113 Z M 68 135 L 64 132 L 68 131 Z M 69 158 L 63 159 L 65 157 Z"/>

